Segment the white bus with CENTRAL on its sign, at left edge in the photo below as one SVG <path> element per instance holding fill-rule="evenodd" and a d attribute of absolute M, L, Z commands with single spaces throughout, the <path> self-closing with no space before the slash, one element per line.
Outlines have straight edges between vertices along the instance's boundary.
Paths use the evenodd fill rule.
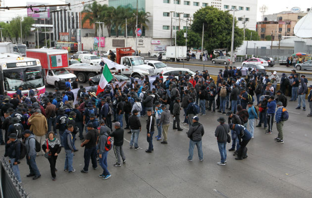
<path fill-rule="evenodd" d="M 22 94 L 28 95 L 28 88 L 34 90 L 36 96 L 45 93 L 44 73 L 39 59 L 18 56 L 16 54 L 0 54 L 0 94 L 12 97 L 19 86 Z"/>

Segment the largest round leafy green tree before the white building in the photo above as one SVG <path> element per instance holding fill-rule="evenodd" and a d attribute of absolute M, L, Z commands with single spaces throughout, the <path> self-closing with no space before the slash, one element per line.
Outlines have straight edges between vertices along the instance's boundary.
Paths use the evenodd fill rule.
<path fill-rule="evenodd" d="M 208 52 L 216 48 L 231 49 L 232 20 L 233 16 L 228 11 L 207 6 L 194 14 L 191 29 L 201 34 L 204 23 L 204 48 Z M 242 45 L 244 33 L 237 27 L 237 20 L 234 25 L 234 49 L 236 49 Z"/>

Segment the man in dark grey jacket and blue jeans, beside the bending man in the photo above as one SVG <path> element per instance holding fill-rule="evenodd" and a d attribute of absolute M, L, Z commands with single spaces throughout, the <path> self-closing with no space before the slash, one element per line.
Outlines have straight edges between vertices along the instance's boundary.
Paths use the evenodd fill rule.
<path fill-rule="evenodd" d="M 230 132 L 230 127 L 228 124 L 225 124 L 224 117 L 219 117 L 217 120 L 220 124 L 216 127 L 214 131 L 214 136 L 217 138 L 219 152 L 221 156 L 220 162 L 218 165 L 225 165 L 226 162 L 226 143 L 227 143 L 227 134 Z"/>

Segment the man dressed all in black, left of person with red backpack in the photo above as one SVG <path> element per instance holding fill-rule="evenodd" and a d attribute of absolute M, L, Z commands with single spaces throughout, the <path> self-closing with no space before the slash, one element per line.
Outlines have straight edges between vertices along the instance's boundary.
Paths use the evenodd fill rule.
<path fill-rule="evenodd" d="M 86 134 L 85 140 L 81 143 L 81 147 L 85 147 L 84 159 L 85 166 L 81 170 L 82 173 L 88 173 L 90 158 L 92 162 L 92 167 L 94 170 L 97 169 L 97 141 L 98 141 L 98 130 L 93 128 L 92 123 L 87 124 L 88 133 Z"/>

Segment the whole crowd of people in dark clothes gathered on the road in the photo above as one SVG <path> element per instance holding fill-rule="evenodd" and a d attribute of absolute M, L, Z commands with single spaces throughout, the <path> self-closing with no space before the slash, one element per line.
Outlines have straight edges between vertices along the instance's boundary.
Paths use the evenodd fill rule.
<path fill-rule="evenodd" d="M 48 158 L 52 180 L 55 180 L 55 164 L 62 149 L 65 152 L 64 171 L 75 172 L 73 156 L 79 148 L 76 141 L 79 137 L 82 141 L 80 147 L 84 147 L 84 167 L 81 172 L 88 173 L 90 160 L 93 169 L 97 169 L 99 161 L 103 169 L 99 176 L 108 179 L 111 176 L 107 169 L 109 150 L 113 148 L 116 157 L 113 166 L 126 163 L 124 129 L 131 134 L 129 148 L 137 150 L 142 131 L 140 117 L 143 116 L 146 116 L 146 130 L 143 131 L 148 142 L 147 153 L 154 151 L 154 133 L 156 141 L 169 143 L 168 130 L 172 116 L 172 130 L 183 131 L 180 124 L 184 128 L 189 127 L 186 132 L 190 139 L 187 160 L 193 160 L 196 145 L 199 160 L 203 161 L 202 137 L 205 130 L 199 122 L 200 117 L 205 119 L 207 111 L 214 113 L 217 110 L 228 116 L 227 123 L 225 117 L 219 117 L 219 125 L 215 129 L 221 156 L 217 164 L 225 165 L 227 143 L 232 142 L 229 151 L 234 151 L 235 159 L 242 160 L 248 156 L 246 146 L 254 138 L 256 120 L 259 120 L 256 127 L 261 127 L 263 123 L 265 134 L 272 134 L 275 118 L 278 135 L 274 140 L 284 143 L 283 125 L 288 119 L 284 94 L 287 89 L 292 96 L 290 101 L 298 98 L 297 109 L 301 108 L 303 102 L 303 110 L 306 110 L 308 82 L 306 78 L 298 77 L 293 71 L 288 77 L 283 74 L 279 79 L 276 72 L 268 76 L 257 74 L 250 68 L 243 78 L 238 68 L 225 67 L 224 71 L 219 71 L 216 81 L 210 78 L 208 70 L 197 71 L 194 76 L 180 72 L 178 77 L 170 74 L 164 79 L 160 75 L 153 82 L 150 82 L 149 76 L 145 76 L 140 81 L 131 79 L 121 86 L 107 85 L 98 96 L 95 94 L 96 87 L 87 91 L 83 86 L 80 86 L 76 95 L 70 84 L 63 92 L 55 88 L 55 93 L 46 92 L 39 98 L 33 92 L 23 96 L 19 89 L 13 98 L 7 93 L 0 96 L 1 128 L 5 131 L 4 139 L 0 134 L 0 144 L 5 144 L 5 156 L 10 158 L 12 169 L 20 182 L 18 164 L 24 156 L 30 171 L 27 177 L 33 177 L 34 180 L 41 177 L 36 165 L 36 156 L 40 154 Z M 277 83 L 280 83 L 279 90 L 276 90 Z M 312 86 L 309 89 L 312 90 Z M 311 109 L 308 116 L 312 116 L 312 92 L 308 101 Z"/>

